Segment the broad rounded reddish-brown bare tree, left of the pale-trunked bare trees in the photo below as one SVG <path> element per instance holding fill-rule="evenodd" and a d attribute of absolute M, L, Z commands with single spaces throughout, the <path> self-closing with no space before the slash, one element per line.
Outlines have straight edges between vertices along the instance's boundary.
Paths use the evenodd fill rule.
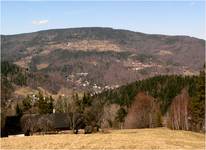
<path fill-rule="evenodd" d="M 161 124 L 159 114 L 160 108 L 155 99 L 145 93 L 138 93 L 128 109 L 125 128 L 157 127 Z"/>

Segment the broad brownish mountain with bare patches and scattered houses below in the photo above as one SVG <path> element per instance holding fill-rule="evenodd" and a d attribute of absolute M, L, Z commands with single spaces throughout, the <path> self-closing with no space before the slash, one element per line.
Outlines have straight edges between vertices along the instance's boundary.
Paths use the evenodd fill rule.
<path fill-rule="evenodd" d="M 112 28 L 53 29 L 1 35 L 1 59 L 38 78 L 29 86 L 99 93 L 159 74 L 198 74 L 205 41 Z"/>

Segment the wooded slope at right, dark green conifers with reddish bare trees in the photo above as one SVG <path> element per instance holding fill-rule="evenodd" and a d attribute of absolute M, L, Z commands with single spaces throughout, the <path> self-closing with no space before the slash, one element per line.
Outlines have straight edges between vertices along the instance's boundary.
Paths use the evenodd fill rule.
<path fill-rule="evenodd" d="M 94 96 L 94 99 L 103 101 L 106 105 L 118 104 L 117 118 L 120 117 L 124 122 L 125 117 L 124 123 L 128 127 L 165 125 L 174 129 L 204 130 L 204 79 L 203 71 L 199 76 L 156 76 L 115 90 L 105 91 Z M 172 107 L 176 109 L 172 109 Z M 184 108 L 186 110 L 183 112 Z M 147 109 L 149 110 L 147 111 Z M 124 115 L 125 113 L 128 113 L 130 118 Z M 149 116 L 154 113 L 156 116 Z M 174 116 L 174 113 L 182 114 L 186 118 L 178 118 Z M 139 122 L 142 124 L 128 125 L 129 120 L 134 121 L 136 116 L 142 114 L 144 114 L 142 116 L 144 119 L 136 120 L 136 124 Z M 155 119 L 155 123 L 144 124 L 144 121 L 149 119 L 151 121 Z M 115 123 L 115 120 L 113 121 Z M 186 124 L 187 127 L 183 127 L 182 124 Z"/>

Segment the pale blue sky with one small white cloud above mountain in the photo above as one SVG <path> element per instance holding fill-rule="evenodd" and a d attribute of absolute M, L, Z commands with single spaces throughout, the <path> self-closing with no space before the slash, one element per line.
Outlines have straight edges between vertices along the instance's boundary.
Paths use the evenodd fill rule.
<path fill-rule="evenodd" d="M 3 1 L 1 34 L 100 26 L 206 39 L 204 11 L 205 1 Z"/>

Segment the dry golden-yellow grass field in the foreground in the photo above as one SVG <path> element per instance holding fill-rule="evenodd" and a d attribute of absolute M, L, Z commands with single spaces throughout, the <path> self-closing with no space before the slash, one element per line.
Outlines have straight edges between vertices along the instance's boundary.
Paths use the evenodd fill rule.
<path fill-rule="evenodd" d="M 1 149 L 204 149 L 204 134 L 166 128 L 1 138 Z"/>

